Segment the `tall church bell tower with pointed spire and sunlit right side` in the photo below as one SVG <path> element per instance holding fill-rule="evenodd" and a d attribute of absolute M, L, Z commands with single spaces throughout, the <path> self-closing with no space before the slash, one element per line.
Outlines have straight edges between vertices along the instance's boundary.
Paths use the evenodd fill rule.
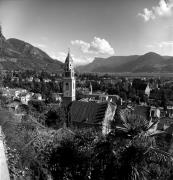
<path fill-rule="evenodd" d="M 72 101 L 75 100 L 76 100 L 76 80 L 74 76 L 73 59 L 69 51 L 64 65 L 63 102 L 66 106 L 68 106 Z"/>

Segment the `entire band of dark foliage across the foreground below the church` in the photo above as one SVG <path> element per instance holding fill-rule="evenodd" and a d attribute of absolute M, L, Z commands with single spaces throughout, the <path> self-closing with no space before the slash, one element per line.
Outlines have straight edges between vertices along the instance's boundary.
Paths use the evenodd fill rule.
<path fill-rule="evenodd" d="M 3 117 L 1 114 L 0 117 Z M 157 146 L 163 132 L 138 116 L 120 117 L 121 125 L 103 137 L 90 130 L 50 130 L 10 114 L 0 119 L 12 177 L 60 180 L 171 179 L 172 158 Z"/>

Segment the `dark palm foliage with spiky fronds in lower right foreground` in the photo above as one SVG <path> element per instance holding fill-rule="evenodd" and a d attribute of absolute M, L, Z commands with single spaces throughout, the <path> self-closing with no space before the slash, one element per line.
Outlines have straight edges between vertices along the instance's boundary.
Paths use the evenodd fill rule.
<path fill-rule="evenodd" d="M 94 179 L 142 180 L 161 177 L 158 168 L 172 167 L 172 157 L 156 144 L 155 136 L 163 132 L 154 130 L 155 123 L 149 123 L 139 116 L 120 116 L 121 125 L 103 142 L 96 146 Z M 94 171 L 97 168 L 97 173 Z M 99 174 L 97 176 L 96 174 Z M 165 174 L 164 178 L 168 178 Z M 169 174 L 170 175 L 170 174 Z"/>

